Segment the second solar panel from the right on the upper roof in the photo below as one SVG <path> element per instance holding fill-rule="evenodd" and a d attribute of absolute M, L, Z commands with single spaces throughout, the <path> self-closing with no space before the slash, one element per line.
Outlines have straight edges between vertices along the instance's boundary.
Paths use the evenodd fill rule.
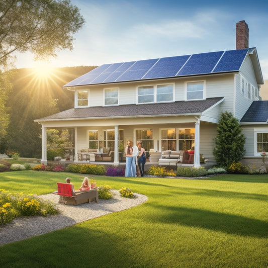
<path fill-rule="evenodd" d="M 176 76 L 210 73 L 223 51 L 194 54 Z"/>

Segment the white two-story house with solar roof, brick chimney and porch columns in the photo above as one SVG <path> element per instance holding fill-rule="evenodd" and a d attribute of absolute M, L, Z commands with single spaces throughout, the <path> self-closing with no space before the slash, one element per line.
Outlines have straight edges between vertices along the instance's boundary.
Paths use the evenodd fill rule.
<path fill-rule="evenodd" d="M 141 140 L 146 151 L 185 150 L 195 146 L 213 160 L 214 138 L 222 112 L 240 121 L 246 157 L 267 151 L 268 103 L 261 101 L 263 78 L 256 48 L 248 48 L 248 27 L 236 25 L 236 49 L 104 64 L 70 81 L 74 108 L 35 120 L 42 124 L 42 163 L 46 130 L 74 133 L 74 160 L 84 148 L 114 151 L 122 159 L 127 140 Z M 263 112 L 265 111 L 265 112 Z"/>

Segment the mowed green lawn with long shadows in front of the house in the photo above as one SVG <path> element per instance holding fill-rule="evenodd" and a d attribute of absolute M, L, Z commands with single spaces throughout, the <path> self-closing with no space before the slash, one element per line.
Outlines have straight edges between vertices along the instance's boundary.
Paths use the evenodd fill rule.
<path fill-rule="evenodd" d="M 84 177 L 4 172 L 0 188 L 47 194 L 67 176 L 76 189 Z M 267 267 L 268 175 L 95 179 L 97 186 L 126 186 L 149 199 L 128 210 L 0 246 L 0 266 Z"/>

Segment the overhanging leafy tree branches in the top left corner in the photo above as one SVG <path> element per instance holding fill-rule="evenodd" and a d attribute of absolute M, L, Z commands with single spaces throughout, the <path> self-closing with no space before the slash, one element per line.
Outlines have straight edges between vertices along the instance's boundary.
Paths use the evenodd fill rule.
<path fill-rule="evenodd" d="M 79 9 L 69 0 L 1 0 L 0 66 L 8 64 L 14 51 L 45 58 L 72 49 L 73 34 L 83 24 Z"/>

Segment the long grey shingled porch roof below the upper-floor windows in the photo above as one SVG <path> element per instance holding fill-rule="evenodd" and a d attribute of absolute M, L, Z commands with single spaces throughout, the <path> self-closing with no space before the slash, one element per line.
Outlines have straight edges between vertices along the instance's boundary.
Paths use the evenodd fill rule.
<path fill-rule="evenodd" d="M 218 104 L 224 98 L 208 98 L 203 101 L 178 101 L 173 103 L 156 104 L 130 104 L 120 106 L 98 106 L 88 108 L 72 108 L 51 116 L 34 120 L 35 122 L 51 120 L 73 120 L 91 118 L 115 118 L 134 116 L 167 116 L 167 115 L 197 115 L 201 114 L 212 106 Z"/>

